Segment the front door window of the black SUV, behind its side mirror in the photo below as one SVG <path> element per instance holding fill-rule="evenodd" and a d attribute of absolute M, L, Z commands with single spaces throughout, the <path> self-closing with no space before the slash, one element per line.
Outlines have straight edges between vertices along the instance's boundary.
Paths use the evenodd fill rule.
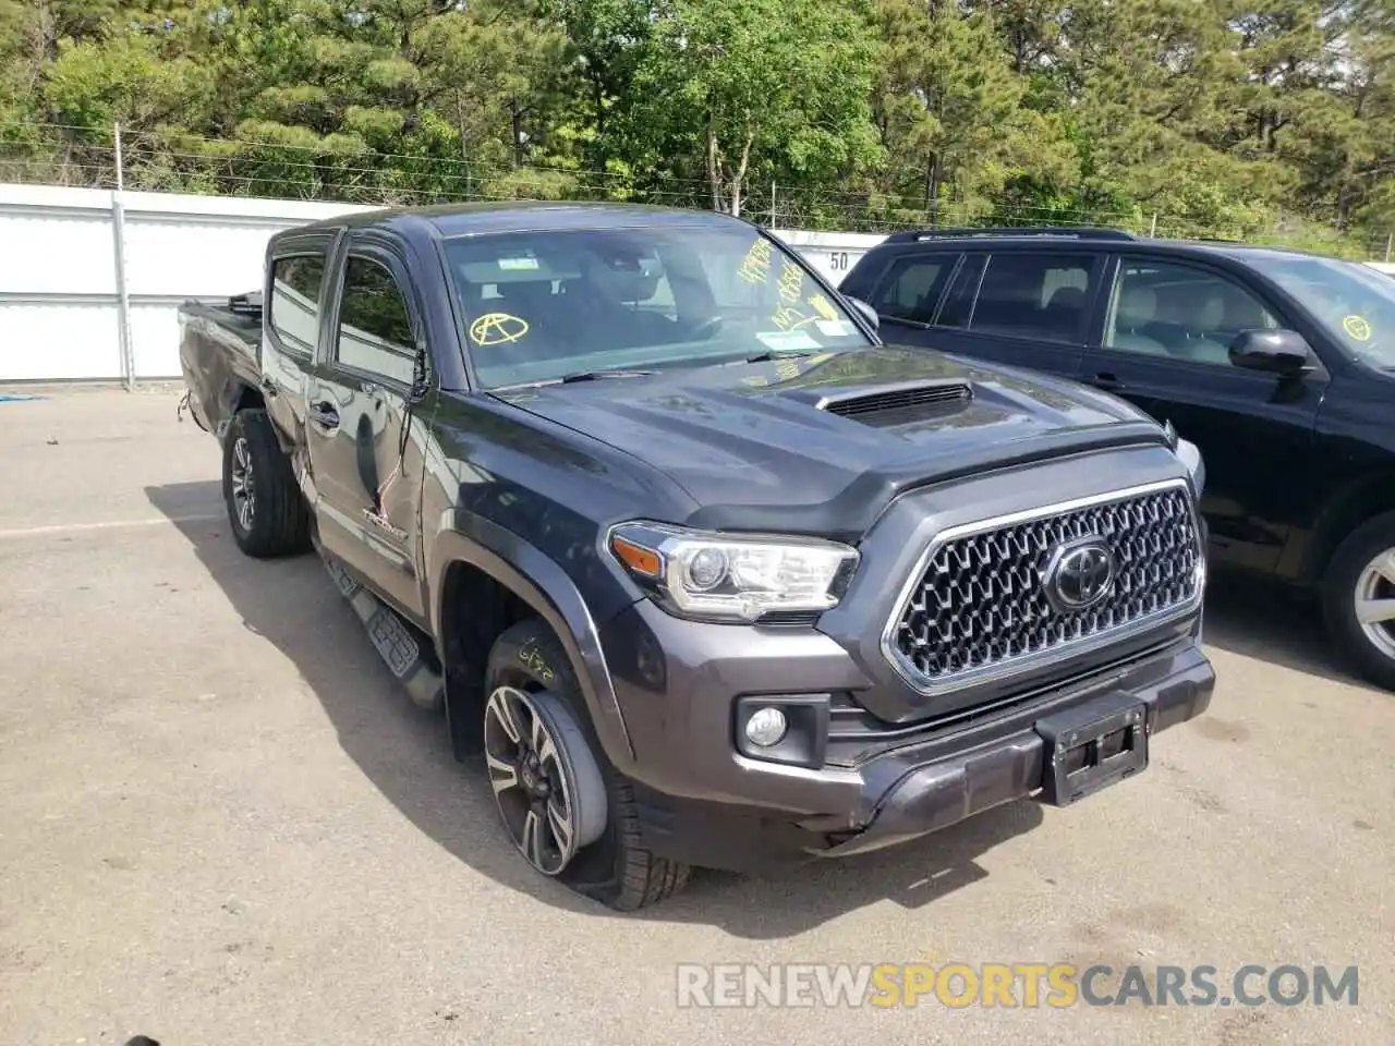
<path fill-rule="evenodd" d="M 1126 258 L 1115 280 L 1105 347 L 1228 367 L 1236 335 L 1278 326 L 1274 314 L 1228 276 Z"/>

